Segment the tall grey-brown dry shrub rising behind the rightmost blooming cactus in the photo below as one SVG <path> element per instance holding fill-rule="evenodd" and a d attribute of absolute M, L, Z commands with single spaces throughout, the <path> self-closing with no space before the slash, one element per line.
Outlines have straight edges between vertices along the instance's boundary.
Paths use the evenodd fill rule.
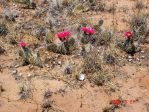
<path fill-rule="evenodd" d="M 131 20 L 131 29 L 134 32 L 134 40 L 138 40 L 147 33 L 147 17 L 135 15 Z"/>

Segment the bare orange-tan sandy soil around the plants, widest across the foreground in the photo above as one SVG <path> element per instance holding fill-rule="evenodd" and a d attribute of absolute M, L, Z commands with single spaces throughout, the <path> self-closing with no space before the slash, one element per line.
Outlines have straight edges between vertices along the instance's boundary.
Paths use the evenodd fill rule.
<path fill-rule="evenodd" d="M 112 3 L 111 0 L 107 0 L 107 2 Z M 148 1 L 144 0 L 143 2 L 146 5 Z M 129 29 L 128 21 L 133 14 L 134 3 L 134 0 L 117 1 L 115 15 L 117 32 Z M 11 7 L 14 8 L 13 5 Z M 2 10 L 1 6 L 0 13 Z M 26 9 L 21 10 L 23 12 Z M 144 12 L 149 13 L 149 8 L 144 8 Z M 28 13 L 31 15 L 34 11 Z M 110 28 L 113 24 L 111 13 L 94 14 L 94 12 L 89 12 L 89 14 L 92 14 L 91 18 L 94 18 L 95 22 L 98 18 L 104 19 L 106 28 Z M 145 51 L 143 55 L 148 56 L 148 45 L 145 44 L 142 47 Z M 116 86 L 116 91 L 110 92 L 109 86 L 98 87 L 89 83 L 87 79 L 80 82 L 65 76 L 63 68 L 67 64 L 67 60 L 73 60 L 75 65 L 79 64 L 81 60 L 73 56 L 59 58 L 63 65 L 57 65 L 54 69 L 17 67 L 17 72 L 21 73 L 22 79 L 15 80 L 12 75 L 12 66 L 18 56 L 16 50 L 9 46 L 7 52 L 0 55 L 0 65 L 3 68 L 0 72 L 0 85 L 4 89 L 4 91 L 0 90 L 0 112 L 42 112 L 46 90 L 52 91 L 52 96 L 49 99 L 53 103 L 49 112 L 102 112 L 103 108 L 111 105 L 109 103 L 111 100 L 117 99 L 119 96 L 125 100 L 136 100 L 136 102 L 126 104 L 125 107 L 116 109 L 115 112 L 149 112 L 149 61 L 147 58 L 142 59 L 141 64 L 127 62 L 125 66 L 115 65 L 112 67 L 112 74 L 115 75 L 112 81 Z M 51 56 L 50 53 L 49 55 Z M 27 100 L 20 100 L 19 92 L 22 84 L 29 85 L 31 88 L 31 95 Z"/>

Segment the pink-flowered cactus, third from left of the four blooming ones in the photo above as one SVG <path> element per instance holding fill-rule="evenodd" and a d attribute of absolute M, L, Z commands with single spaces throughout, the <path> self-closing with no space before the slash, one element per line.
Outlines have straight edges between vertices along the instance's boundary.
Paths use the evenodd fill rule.
<path fill-rule="evenodd" d="M 83 27 L 81 28 L 81 31 L 83 32 L 83 36 L 81 38 L 82 43 L 87 44 L 89 42 L 93 43 L 95 41 L 95 29 L 91 27 Z"/>

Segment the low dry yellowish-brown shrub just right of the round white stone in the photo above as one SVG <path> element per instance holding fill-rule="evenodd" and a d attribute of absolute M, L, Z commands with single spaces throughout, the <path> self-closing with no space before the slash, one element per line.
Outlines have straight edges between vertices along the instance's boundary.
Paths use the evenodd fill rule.
<path fill-rule="evenodd" d="M 93 74 L 92 82 L 97 86 L 102 86 L 104 83 L 110 80 L 109 75 L 106 71 L 100 70 Z"/>

